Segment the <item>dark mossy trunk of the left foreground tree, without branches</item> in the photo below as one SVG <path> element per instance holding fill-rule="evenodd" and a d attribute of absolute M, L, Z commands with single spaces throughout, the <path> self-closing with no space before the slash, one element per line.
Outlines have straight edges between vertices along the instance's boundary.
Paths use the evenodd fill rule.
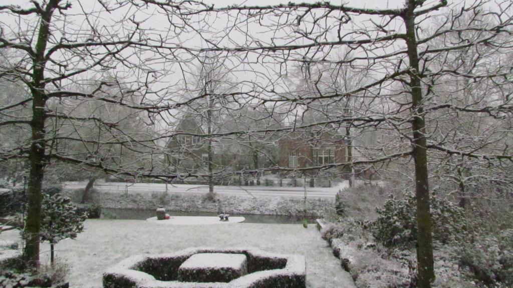
<path fill-rule="evenodd" d="M 45 10 L 40 14 L 39 32 L 33 55 L 33 75 L 30 83 L 30 92 L 32 94 L 32 142 L 29 150 L 29 183 L 28 183 L 28 208 L 27 221 L 25 222 L 25 248 L 23 258 L 29 266 L 37 267 L 39 265 L 39 242 L 41 230 L 41 202 L 43 200 L 42 187 L 45 159 L 45 106 L 47 96 L 45 91 L 45 50 L 49 37 L 49 26 L 54 8 L 59 1 L 50 1 Z"/>

